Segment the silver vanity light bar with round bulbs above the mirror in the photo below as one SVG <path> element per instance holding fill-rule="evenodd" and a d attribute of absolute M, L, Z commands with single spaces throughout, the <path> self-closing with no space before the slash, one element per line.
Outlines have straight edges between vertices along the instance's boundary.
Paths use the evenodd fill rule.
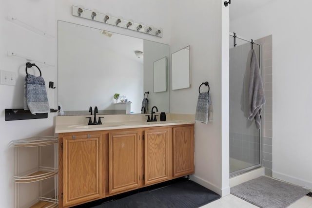
<path fill-rule="evenodd" d="M 162 38 L 162 29 L 161 28 L 153 28 L 151 26 L 147 26 L 144 24 L 132 22 L 125 19 L 116 18 L 110 16 L 108 14 L 102 14 L 99 12 L 95 12 L 89 9 L 85 9 L 78 6 L 73 6 L 73 16 L 84 18 L 84 19 L 91 19 L 93 21 L 98 21 L 110 25 L 114 25 L 117 27 L 122 27 L 128 30 L 134 30 L 137 32 L 149 34 L 152 36 L 157 36 Z"/>

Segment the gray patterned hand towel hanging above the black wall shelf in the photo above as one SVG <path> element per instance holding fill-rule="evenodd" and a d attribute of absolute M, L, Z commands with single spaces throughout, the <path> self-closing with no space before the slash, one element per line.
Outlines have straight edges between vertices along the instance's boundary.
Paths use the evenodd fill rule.
<path fill-rule="evenodd" d="M 42 76 L 26 75 L 24 83 L 24 110 L 32 114 L 49 113 L 49 101 Z"/>

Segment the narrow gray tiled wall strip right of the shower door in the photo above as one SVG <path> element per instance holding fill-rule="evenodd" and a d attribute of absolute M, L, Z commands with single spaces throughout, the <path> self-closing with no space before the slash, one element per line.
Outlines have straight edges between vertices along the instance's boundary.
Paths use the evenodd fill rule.
<path fill-rule="evenodd" d="M 272 176 L 272 138 L 273 138 L 273 56 L 272 35 L 256 40 L 261 45 L 263 83 L 266 103 L 264 105 L 263 135 L 263 166 L 265 174 Z"/>

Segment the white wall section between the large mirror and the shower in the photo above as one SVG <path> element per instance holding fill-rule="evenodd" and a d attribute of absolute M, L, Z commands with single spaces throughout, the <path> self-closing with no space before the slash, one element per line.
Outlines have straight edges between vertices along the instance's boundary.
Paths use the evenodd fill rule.
<path fill-rule="evenodd" d="M 225 37 L 225 43 L 221 40 L 223 32 L 229 34 L 228 10 L 219 0 L 171 0 L 171 8 L 174 9 L 171 11 L 170 50 L 173 53 L 190 45 L 191 87 L 171 91 L 170 112 L 195 114 L 198 87 L 202 82 L 209 82 L 214 121 L 208 124 L 195 123 L 195 175 L 192 179 L 221 195 L 226 195 L 229 193 L 229 38 Z M 224 28 L 221 27 L 223 24 L 226 25 Z M 222 63 L 222 58 L 227 60 Z M 227 85 L 222 86 L 225 82 Z M 201 88 L 201 91 L 205 90 L 208 88 Z M 224 97 L 221 96 L 222 93 Z"/>

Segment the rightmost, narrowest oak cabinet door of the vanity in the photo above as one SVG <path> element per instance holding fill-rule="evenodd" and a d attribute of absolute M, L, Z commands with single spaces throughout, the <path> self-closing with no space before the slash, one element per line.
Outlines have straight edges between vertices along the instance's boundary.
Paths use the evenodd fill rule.
<path fill-rule="evenodd" d="M 194 173 L 194 126 L 173 128 L 173 176 Z"/>

